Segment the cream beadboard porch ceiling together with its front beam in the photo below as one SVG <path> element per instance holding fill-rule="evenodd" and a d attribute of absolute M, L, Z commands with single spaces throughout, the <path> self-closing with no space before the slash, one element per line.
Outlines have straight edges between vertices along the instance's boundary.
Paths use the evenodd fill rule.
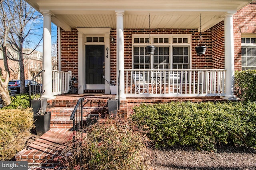
<path fill-rule="evenodd" d="M 193 28 L 202 31 L 219 23 L 227 13 L 253 0 L 25 0 L 52 22 L 71 31 L 76 27 L 116 28 L 116 11 L 124 11 L 124 28 Z"/>

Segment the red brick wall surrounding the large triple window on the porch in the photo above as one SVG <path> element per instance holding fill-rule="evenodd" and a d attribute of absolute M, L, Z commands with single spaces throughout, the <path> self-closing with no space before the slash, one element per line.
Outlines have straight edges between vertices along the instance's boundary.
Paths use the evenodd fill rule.
<path fill-rule="evenodd" d="M 149 34 L 149 29 L 124 29 L 124 68 L 132 68 L 132 34 Z M 150 34 L 192 34 L 192 69 L 212 68 L 212 31 L 211 29 L 202 33 L 206 43 L 206 54 L 196 55 L 195 47 L 198 45 L 200 33 L 197 29 L 151 29 Z M 110 36 L 116 39 L 116 30 L 112 29 Z M 200 42 L 199 45 L 202 45 Z M 116 79 L 116 42 L 111 47 L 111 80 Z"/>

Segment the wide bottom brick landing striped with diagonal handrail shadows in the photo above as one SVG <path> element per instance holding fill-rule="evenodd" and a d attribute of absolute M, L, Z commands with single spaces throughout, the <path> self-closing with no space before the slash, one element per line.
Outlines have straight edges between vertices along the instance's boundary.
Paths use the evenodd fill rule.
<path fill-rule="evenodd" d="M 29 168 L 54 168 L 59 162 L 54 160 L 70 139 L 68 129 L 50 129 L 28 147 L 15 155 L 17 161 L 28 161 Z"/>

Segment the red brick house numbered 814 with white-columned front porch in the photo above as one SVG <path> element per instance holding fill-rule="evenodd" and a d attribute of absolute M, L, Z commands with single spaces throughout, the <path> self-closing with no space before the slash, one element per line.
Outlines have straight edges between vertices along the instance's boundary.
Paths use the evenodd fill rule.
<path fill-rule="evenodd" d="M 109 83 L 120 80 L 121 99 L 234 99 L 234 71 L 256 68 L 254 0 L 26 2 L 44 16 L 45 98 L 67 92 L 69 78 L 62 73 L 70 77 L 66 73 L 71 71 L 78 94 L 110 94 Z M 55 71 L 50 63 L 51 22 L 58 26 Z M 204 55 L 195 50 L 202 43 L 200 35 L 207 47 Z M 156 47 L 153 55 L 146 53 L 149 45 Z"/>

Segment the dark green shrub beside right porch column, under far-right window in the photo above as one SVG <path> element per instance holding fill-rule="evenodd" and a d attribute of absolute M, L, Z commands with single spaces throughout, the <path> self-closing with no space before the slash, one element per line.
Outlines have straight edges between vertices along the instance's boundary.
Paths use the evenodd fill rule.
<path fill-rule="evenodd" d="M 236 71 L 234 89 L 238 98 L 256 101 L 256 70 Z"/>

